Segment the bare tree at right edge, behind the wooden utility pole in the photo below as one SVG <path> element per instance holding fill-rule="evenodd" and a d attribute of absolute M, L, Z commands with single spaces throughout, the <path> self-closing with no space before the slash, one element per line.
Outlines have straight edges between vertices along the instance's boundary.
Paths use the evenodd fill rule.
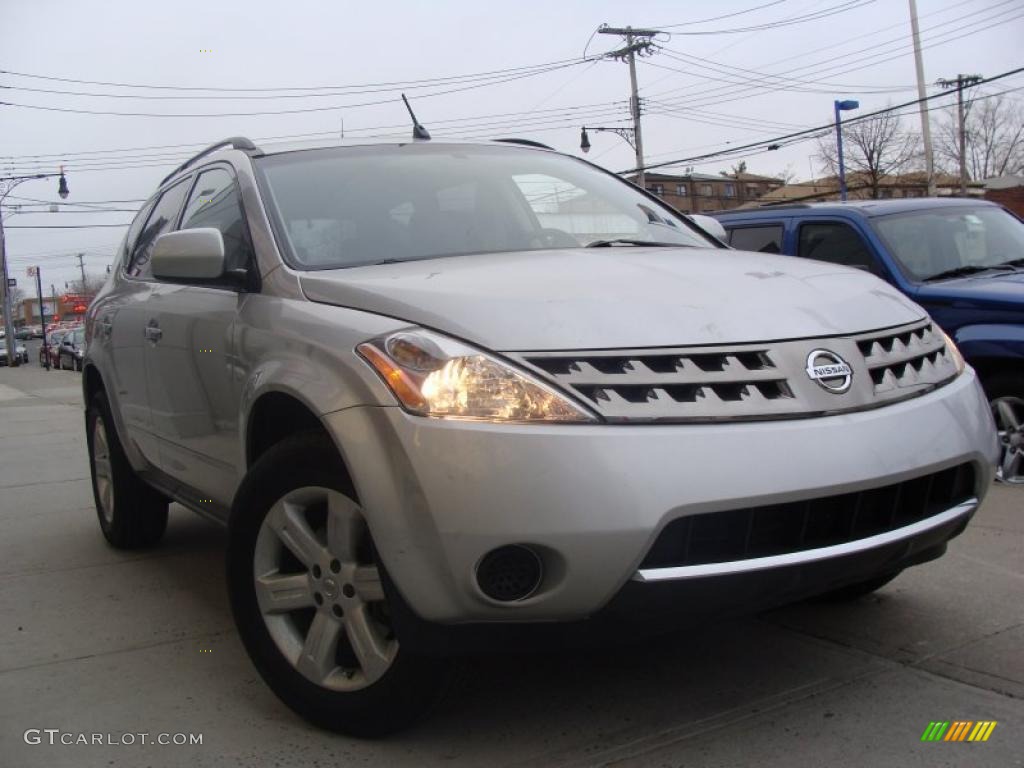
<path fill-rule="evenodd" d="M 968 101 L 967 172 L 975 180 L 1004 174 L 1024 173 L 1024 104 L 993 96 Z M 956 110 L 942 115 L 936 140 L 938 162 L 959 174 L 959 126 Z"/>

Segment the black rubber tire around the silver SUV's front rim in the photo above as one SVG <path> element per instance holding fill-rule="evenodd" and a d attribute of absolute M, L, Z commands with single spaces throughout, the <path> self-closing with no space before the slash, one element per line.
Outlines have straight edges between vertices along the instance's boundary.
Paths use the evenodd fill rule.
<path fill-rule="evenodd" d="M 317 432 L 288 437 L 271 447 L 253 465 L 239 488 L 231 508 L 227 548 L 228 595 L 239 634 L 266 684 L 313 725 L 358 737 L 397 731 L 440 700 L 451 680 L 450 660 L 413 655 L 399 645 L 390 666 L 376 682 L 357 690 L 333 690 L 299 673 L 279 649 L 260 611 L 254 558 L 263 521 L 280 499 L 307 487 L 339 492 L 354 504 L 355 495 L 334 444 Z M 383 602 L 390 604 L 386 596 Z M 346 627 L 344 633 L 347 631 Z M 393 639 L 400 642 L 400 638 Z M 348 641 L 344 642 L 347 645 Z M 341 664 L 341 651 L 339 640 L 332 664 Z"/>

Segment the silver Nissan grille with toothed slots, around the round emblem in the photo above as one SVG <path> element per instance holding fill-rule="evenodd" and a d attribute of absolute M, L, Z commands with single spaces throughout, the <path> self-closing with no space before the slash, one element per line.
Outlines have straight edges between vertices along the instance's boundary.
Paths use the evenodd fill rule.
<path fill-rule="evenodd" d="M 849 391 L 812 381 L 807 356 L 826 348 L 853 369 Z M 819 416 L 921 394 L 955 375 L 930 323 L 845 337 L 656 349 L 512 352 L 612 422 L 711 422 Z"/>

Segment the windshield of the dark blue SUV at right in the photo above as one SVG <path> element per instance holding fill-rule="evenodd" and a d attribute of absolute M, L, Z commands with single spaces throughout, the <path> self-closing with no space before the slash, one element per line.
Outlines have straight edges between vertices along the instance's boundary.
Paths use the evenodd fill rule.
<path fill-rule="evenodd" d="M 998 268 L 1024 258 L 1024 223 L 1001 208 L 933 208 L 871 219 L 914 280 Z"/>

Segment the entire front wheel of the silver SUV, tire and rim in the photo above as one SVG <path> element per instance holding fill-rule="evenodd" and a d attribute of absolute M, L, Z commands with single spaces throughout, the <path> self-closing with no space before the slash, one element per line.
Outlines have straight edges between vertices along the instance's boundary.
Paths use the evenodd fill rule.
<path fill-rule="evenodd" d="M 329 438 L 290 437 L 250 469 L 228 525 L 231 609 L 263 680 L 314 725 L 383 735 L 446 688 L 449 660 L 401 647 L 382 570 Z"/>

